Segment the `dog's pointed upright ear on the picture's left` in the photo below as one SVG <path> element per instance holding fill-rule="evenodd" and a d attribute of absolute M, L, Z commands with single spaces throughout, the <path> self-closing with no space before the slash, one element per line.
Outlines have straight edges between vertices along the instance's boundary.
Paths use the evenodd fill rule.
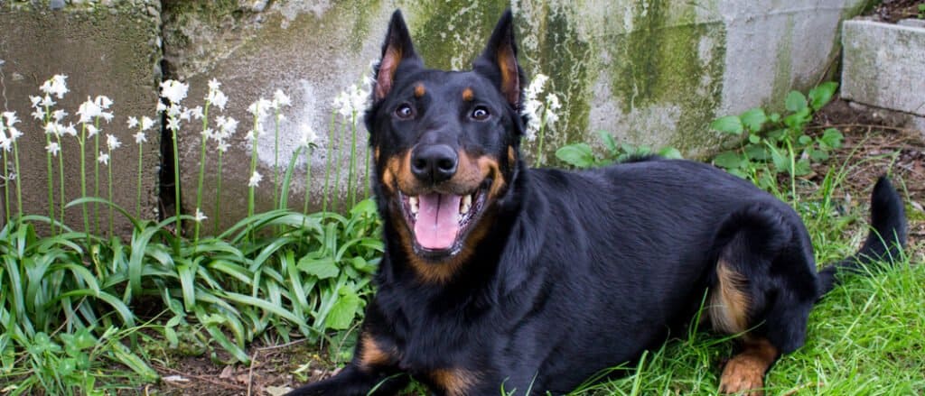
<path fill-rule="evenodd" d="M 388 22 L 386 41 L 382 43 L 382 59 L 376 66 L 376 89 L 373 90 L 375 101 L 380 101 L 388 95 L 395 80 L 395 71 L 402 62 L 407 61 L 422 65 L 421 58 L 414 53 L 411 34 L 408 33 L 408 26 L 401 17 L 401 10 L 395 10 L 391 21 Z"/>

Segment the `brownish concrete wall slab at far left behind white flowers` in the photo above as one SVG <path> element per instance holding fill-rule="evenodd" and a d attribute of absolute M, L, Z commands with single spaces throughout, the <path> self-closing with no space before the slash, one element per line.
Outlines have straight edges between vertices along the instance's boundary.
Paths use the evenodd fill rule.
<path fill-rule="evenodd" d="M 105 3 L 105 5 L 103 4 Z M 56 74 L 68 75 L 70 90 L 62 100 L 55 99 L 55 109 L 64 109 L 64 123 L 77 123 L 76 114 L 88 96 L 105 95 L 114 102 L 111 123 L 102 123 L 104 134 L 114 134 L 121 141 L 110 161 L 113 169 L 113 192 L 116 203 L 135 211 L 138 172 L 138 146 L 131 137 L 126 120 L 129 115 L 147 115 L 156 119 L 156 81 L 159 50 L 158 1 L 65 2 L 17 1 L 0 7 L 0 59 L 4 75 L 4 111 L 19 115 L 17 125 L 24 133 L 19 140 L 19 161 L 23 209 L 30 214 L 48 214 L 45 134 L 42 124 L 31 117 L 30 95 L 39 95 L 39 86 Z M 159 124 L 159 123 L 158 123 Z M 154 129 L 157 129 L 155 126 Z M 142 163 L 142 217 L 156 218 L 156 173 L 159 159 L 159 136 L 149 131 Z M 65 192 L 70 201 L 80 196 L 79 146 L 75 138 L 63 142 Z M 104 148 L 105 150 L 105 140 Z M 96 155 L 87 150 L 88 171 Z M 58 200 L 57 163 L 55 196 Z M 106 197 L 106 168 L 101 167 L 101 196 Z M 93 186 L 92 171 L 88 181 Z M 91 190 L 93 188 L 91 187 Z M 0 198 L 2 199 L 2 198 Z M 0 205 L 2 206 L 2 205 Z M 15 203 L 11 205 L 16 207 Z M 101 226 L 108 230 L 108 217 L 101 213 Z M 68 225 L 82 230 L 79 208 L 67 211 Z M 128 234 L 129 223 L 117 215 L 117 233 Z M 108 234 L 108 233 L 104 233 Z"/>

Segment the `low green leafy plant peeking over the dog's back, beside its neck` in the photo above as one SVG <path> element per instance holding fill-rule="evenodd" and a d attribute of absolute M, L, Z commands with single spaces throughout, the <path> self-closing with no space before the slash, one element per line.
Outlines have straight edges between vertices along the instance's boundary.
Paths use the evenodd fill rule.
<path fill-rule="evenodd" d="M 648 155 L 658 155 L 671 159 L 682 158 L 681 152 L 671 147 L 652 150 L 648 146 L 617 143 L 613 136 L 607 131 L 599 131 L 598 135 L 600 136 L 604 148 L 607 150 L 603 155 L 595 153 L 587 143 L 574 143 L 556 150 L 556 158 L 561 162 L 568 163 L 581 169 L 594 168 L 613 162 L 629 161 L 633 158 L 645 157 Z"/>

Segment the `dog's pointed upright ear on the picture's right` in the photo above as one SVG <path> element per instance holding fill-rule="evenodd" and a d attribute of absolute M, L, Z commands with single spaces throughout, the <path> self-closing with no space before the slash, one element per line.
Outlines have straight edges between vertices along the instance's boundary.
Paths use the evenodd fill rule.
<path fill-rule="evenodd" d="M 491 33 L 485 51 L 473 62 L 473 70 L 491 78 L 511 105 L 520 108 L 524 72 L 517 65 L 517 43 L 511 10 L 504 11 Z"/>

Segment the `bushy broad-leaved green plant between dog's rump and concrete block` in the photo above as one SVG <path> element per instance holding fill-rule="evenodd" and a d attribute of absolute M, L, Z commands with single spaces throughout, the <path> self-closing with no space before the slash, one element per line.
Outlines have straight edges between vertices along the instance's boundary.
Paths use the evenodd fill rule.
<path fill-rule="evenodd" d="M 754 108 L 714 120 L 712 129 L 742 140 L 739 148 L 721 152 L 713 163 L 765 189 L 776 186 L 777 174 L 792 178 L 810 174 L 811 163 L 827 160 L 832 150 L 842 146 L 844 137 L 838 129 L 825 129 L 817 137 L 806 131 L 813 114 L 832 100 L 837 88 L 837 83 L 826 82 L 808 95 L 793 90 L 784 100 L 783 114 Z"/>

